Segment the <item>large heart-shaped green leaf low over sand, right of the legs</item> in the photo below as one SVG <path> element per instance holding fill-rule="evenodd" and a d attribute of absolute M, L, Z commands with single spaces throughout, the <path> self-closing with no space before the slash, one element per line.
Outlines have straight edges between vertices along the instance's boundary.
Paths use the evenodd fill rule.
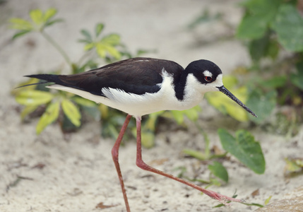
<path fill-rule="evenodd" d="M 249 131 L 239 130 L 234 138 L 225 129 L 218 129 L 220 141 L 225 151 L 238 158 L 257 174 L 265 171 L 265 159 L 260 143 L 254 140 Z"/>

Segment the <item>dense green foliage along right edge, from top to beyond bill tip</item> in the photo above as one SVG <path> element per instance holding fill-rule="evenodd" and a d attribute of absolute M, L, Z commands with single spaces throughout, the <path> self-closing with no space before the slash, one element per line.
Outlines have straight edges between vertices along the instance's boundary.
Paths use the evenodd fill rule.
<path fill-rule="evenodd" d="M 303 105 L 303 18 L 297 1 L 248 0 L 241 6 L 245 14 L 236 36 L 248 44 L 251 70 L 260 70 L 247 105 L 260 114 L 260 124 L 273 105 Z M 271 59 L 269 67 L 263 65 L 266 59 Z M 260 105 L 253 104 L 257 101 Z"/>

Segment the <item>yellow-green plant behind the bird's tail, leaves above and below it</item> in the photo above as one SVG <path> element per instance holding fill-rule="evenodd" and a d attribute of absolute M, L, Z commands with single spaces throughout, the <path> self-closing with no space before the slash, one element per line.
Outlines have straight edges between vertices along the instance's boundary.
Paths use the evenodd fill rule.
<path fill-rule="evenodd" d="M 13 39 L 31 32 L 40 33 L 40 35 L 61 54 L 66 64 L 68 64 L 71 73 L 80 73 L 86 69 L 97 68 L 98 58 L 108 62 L 131 57 L 131 53 L 128 52 L 126 46 L 121 43 L 120 36 L 114 33 L 102 35 L 102 30 L 105 26 L 102 23 L 97 23 L 94 33 L 90 33 L 88 30 L 81 30 L 83 39 L 79 40 L 79 42 L 85 44 L 85 54 L 83 54 L 83 57 L 81 57 L 77 63 L 73 63 L 68 54 L 61 48 L 61 45 L 44 31 L 45 28 L 54 23 L 63 21 L 61 18 L 54 18 L 56 13 L 57 10 L 54 8 L 49 8 L 45 12 L 42 12 L 40 9 L 35 9 L 29 13 L 31 20 L 11 18 L 11 28 L 18 30 L 18 32 L 13 35 Z M 139 50 L 137 54 L 144 52 L 143 50 Z M 98 57 L 95 57 L 95 53 Z M 54 71 L 54 73 L 60 73 L 60 70 Z M 55 122 L 57 119 L 61 123 L 61 129 L 63 131 L 73 130 L 75 127 L 77 128 L 81 125 L 83 112 L 90 114 L 97 120 L 99 120 L 101 116 L 111 117 L 111 119 L 109 119 L 111 124 L 104 125 L 105 131 L 111 131 L 110 129 L 114 128 L 114 126 L 121 124 L 116 122 L 117 119 L 114 119 L 114 117 L 122 116 L 121 113 L 105 110 L 104 105 L 97 105 L 95 102 L 71 93 L 61 91 L 50 92 L 48 88 L 41 86 L 39 81 L 35 79 L 20 83 L 19 86 L 22 87 L 29 83 L 35 85 L 13 90 L 13 93 L 16 95 L 16 101 L 21 105 L 25 105 L 25 108 L 21 112 L 22 119 L 27 117 L 28 114 L 35 112 L 38 108 L 43 107 L 45 109 L 37 123 L 37 134 L 40 134 L 46 126 L 52 124 L 52 122 Z M 108 113 L 112 113 L 113 115 Z M 107 128 L 109 128 L 109 130 Z M 109 135 L 113 136 L 114 134 Z"/>

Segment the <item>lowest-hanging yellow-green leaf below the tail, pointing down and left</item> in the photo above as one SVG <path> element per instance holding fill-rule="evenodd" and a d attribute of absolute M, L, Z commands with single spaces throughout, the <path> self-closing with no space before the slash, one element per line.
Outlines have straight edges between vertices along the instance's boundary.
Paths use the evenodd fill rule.
<path fill-rule="evenodd" d="M 36 133 L 40 134 L 46 126 L 52 124 L 59 117 L 59 102 L 52 102 L 47 106 L 47 109 L 42 114 L 36 126 Z"/>

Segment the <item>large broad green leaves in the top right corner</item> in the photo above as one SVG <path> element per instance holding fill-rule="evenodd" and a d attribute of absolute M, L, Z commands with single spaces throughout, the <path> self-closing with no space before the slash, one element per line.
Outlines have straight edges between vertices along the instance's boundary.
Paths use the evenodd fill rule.
<path fill-rule="evenodd" d="M 279 51 L 277 42 L 292 52 L 303 51 L 303 18 L 296 8 L 297 1 L 249 0 L 242 2 L 246 13 L 239 27 L 237 37 L 261 42 L 263 49 L 273 51 L 260 52 L 262 57 L 275 58 Z M 276 37 L 272 35 L 276 34 Z M 251 46 L 252 47 L 252 46 Z M 256 52 L 257 53 L 257 52 Z M 254 59 L 259 55 L 252 54 Z"/>

